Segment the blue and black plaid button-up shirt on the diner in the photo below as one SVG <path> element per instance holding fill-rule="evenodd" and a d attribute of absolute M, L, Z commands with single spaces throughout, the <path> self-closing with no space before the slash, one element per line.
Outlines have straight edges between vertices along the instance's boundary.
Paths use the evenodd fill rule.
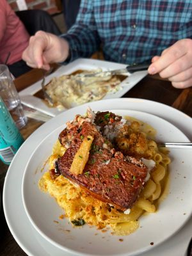
<path fill-rule="evenodd" d="M 150 61 L 182 38 L 192 38 L 191 0 L 82 0 L 76 24 L 61 35 L 70 61 L 102 45 L 105 60 Z"/>

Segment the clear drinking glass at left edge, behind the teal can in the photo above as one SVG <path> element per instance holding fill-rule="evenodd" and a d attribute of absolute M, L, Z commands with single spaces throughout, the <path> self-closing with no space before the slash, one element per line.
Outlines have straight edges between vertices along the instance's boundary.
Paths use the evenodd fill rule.
<path fill-rule="evenodd" d="M 4 101 L 4 104 L 10 111 L 15 124 L 19 129 L 24 127 L 28 121 L 24 115 L 22 105 L 20 103 L 19 93 L 13 83 L 10 70 L 4 64 L 0 64 L 0 96 Z"/>

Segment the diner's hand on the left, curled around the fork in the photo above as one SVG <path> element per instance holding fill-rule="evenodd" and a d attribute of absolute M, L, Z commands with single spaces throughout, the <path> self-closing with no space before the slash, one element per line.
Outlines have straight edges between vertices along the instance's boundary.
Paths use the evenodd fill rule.
<path fill-rule="evenodd" d="M 31 36 L 22 59 L 32 68 L 49 70 L 49 63 L 65 61 L 69 54 L 68 42 L 51 33 L 38 31 Z"/>

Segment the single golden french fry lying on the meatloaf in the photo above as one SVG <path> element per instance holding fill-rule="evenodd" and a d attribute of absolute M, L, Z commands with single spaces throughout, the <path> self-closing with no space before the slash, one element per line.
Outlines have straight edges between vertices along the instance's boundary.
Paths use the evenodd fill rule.
<path fill-rule="evenodd" d="M 77 150 L 72 165 L 70 166 L 70 172 L 74 175 L 83 173 L 84 166 L 88 161 L 90 148 L 92 146 L 93 137 L 87 136 L 83 139 L 81 146 Z"/>

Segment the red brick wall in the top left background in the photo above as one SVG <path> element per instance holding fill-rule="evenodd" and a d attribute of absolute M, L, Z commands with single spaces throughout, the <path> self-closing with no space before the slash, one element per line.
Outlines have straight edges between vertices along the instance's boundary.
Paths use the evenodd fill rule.
<path fill-rule="evenodd" d="M 0 0 L 1 1 L 1 0 Z M 7 0 L 13 10 L 17 11 L 18 6 L 16 0 Z M 61 12 L 61 0 L 25 0 L 28 9 L 41 9 L 50 14 Z"/>

